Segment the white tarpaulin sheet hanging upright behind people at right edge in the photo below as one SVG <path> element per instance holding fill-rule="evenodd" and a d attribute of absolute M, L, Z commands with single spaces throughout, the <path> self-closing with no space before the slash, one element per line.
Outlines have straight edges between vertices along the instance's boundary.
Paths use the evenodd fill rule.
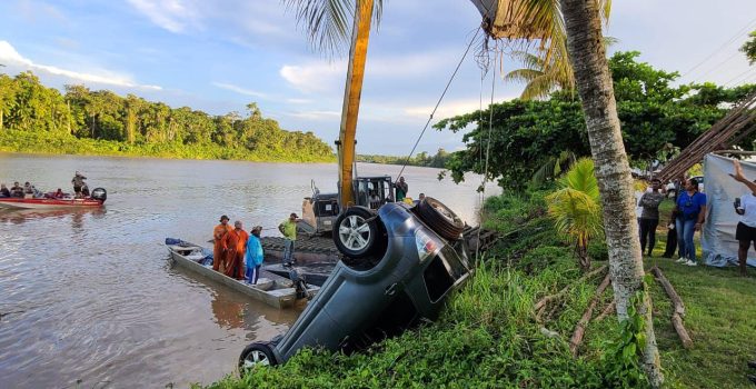
<path fill-rule="evenodd" d="M 756 163 L 740 162 L 746 178 L 756 180 Z M 746 186 L 735 181 L 733 159 L 707 154 L 704 159 L 704 190 L 706 191 L 706 223 L 702 233 L 700 246 L 706 265 L 724 267 L 737 265 L 738 242 L 735 240 L 735 227 L 740 216 L 735 213 L 735 198 L 750 192 Z M 748 248 L 748 265 L 756 266 L 756 251 L 753 245 Z"/>

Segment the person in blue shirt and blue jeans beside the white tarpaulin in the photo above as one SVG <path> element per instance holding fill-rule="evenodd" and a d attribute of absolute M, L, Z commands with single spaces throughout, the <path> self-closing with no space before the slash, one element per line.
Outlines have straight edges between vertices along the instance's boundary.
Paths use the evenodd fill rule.
<path fill-rule="evenodd" d="M 699 231 L 706 218 L 706 194 L 698 192 L 698 181 L 692 178 L 685 182 L 685 191 L 677 197 L 675 228 L 679 245 L 677 262 L 696 266 L 696 245 L 693 236 Z"/>

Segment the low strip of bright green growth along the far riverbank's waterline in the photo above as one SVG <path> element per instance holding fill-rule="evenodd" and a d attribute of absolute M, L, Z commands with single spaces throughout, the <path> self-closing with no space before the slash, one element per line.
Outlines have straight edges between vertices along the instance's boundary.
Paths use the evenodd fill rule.
<path fill-rule="evenodd" d="M 250 151 L 245 148 L 225 148 L 216 143 L 181 144 L 135 143 L 76 138 L 66 133 L 30 132 L 18 130 L 0 131 L 0 151 L 79 154 L 107 157 L 150 157 L 197 160 L 242 160 L 253 162 L 335 162 L 332 153 L 310 153 L 307 150 L 268 149 Z"/>

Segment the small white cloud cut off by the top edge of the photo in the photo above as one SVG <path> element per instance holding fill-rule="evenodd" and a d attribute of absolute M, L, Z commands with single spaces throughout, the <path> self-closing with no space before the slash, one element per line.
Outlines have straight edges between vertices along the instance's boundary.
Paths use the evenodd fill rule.
<path fill-rule="evenodd" d="M 129 3 L 170 32 L 183 32 L 188 24 L 199 20 L 197 7 L 190 0 L 129 0 Z"/>

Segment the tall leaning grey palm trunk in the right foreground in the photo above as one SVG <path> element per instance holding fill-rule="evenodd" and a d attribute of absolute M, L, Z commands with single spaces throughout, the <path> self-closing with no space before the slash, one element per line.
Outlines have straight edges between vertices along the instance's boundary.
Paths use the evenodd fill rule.
<path fill-rule="evenodd" d="M 567 44 L 583 100 L 590 152 L 604 207 L 609 271 L 619 320 L 627 318 L 633 296 L 643 290 L 643 257 L 635 222 L 633 178 L 617 118 L 611 77 L 606 61 L 596 0 L 560 0 Z M 662 376 L 650 299 L 644 295 L 638 312 L 646 321 L 643 366 L 653 387 Z"/>

